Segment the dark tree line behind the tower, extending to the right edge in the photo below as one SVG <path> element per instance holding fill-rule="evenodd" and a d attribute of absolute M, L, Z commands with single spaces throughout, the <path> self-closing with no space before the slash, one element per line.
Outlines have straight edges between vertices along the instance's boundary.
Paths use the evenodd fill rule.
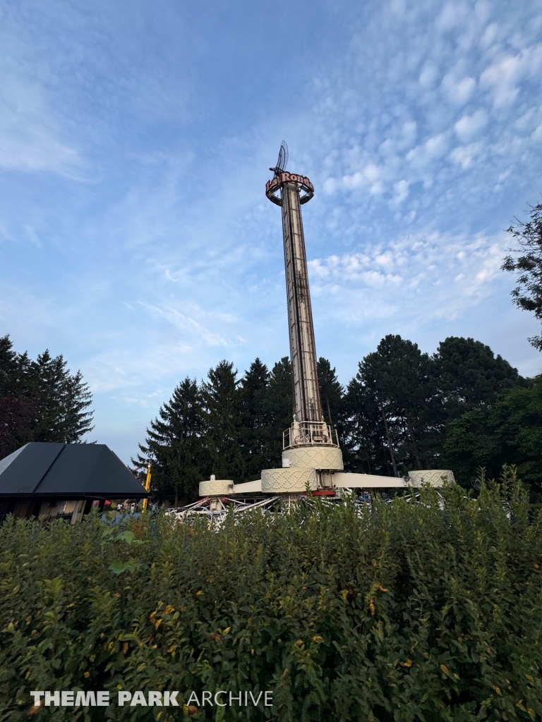
<path fill-rule="evenodd" d="M 541 378 L 522 378 L 489 346 L 452 336 L 429 355 L 389 335 L 346 386 L 327 359 L 317 367 L 324 420 L 337 430 L 347 471 L 450 468 L 469 486 L 480 465 L 498 475 L 508 462 L 534 487 L 541 482 Z M 150 461 L 153 488 L 181 503 L 210 474 L 240 483 L 280 466 L 292 414 L 288 357 L 271 370 L 256 359 L 241 378 L 223 360 L 201 384 L 179 383 L 132 461 Z"/>

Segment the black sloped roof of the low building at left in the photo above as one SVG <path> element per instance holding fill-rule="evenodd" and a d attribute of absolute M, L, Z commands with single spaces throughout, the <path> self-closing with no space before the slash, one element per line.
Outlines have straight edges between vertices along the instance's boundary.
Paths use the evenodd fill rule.
<path fill-rule="evenodd" d="M 33 442 L 0 461 L 0 498 L 150 496 L 105 444 Z"/>

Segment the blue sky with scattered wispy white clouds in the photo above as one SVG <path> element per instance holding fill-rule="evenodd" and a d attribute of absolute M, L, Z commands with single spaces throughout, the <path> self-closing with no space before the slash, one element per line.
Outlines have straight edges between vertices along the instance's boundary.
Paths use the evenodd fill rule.
<path fill-rule="evenodd" d="M 186 375 L 288 355 L 280 142 L 317 352 L 386 334 L 541 373 L 500 270 L 542 193 L 542 1 L 0 0 L 0 335 L 62 354 L 126 462 Z"/>

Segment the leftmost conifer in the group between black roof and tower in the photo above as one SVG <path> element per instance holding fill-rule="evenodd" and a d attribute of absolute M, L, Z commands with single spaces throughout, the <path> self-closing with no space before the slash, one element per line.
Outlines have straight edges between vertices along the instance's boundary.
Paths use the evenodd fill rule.
<path fill-rule="evenodd" d="M 198 496 L 199 482 L 210 473 L 203 445 L 202 396 L 196 380 L 188 376 L 176 386 L 168 403 L 160 406 L 150 422 L 142 452 L 132 463 L 146 469 L 150 462 L 152 489 L 165 497 Z"/>

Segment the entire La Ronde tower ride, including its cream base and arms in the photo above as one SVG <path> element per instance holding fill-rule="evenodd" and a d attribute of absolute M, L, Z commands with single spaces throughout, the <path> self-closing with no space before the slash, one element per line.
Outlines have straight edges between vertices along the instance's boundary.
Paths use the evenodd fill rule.
<path fill-rule="evenodd" d="M 199 484 L 204 497 L 191 508 L 213 505 L 216 511 L 223 506 L 220 497 L 236 499 L 260 497 L 254 502 L 262 505 L 261 497 L 304 494 L 307 489 L 315 495 L 335 496 L 341 489 L 386 489 L 416 487 L 429 483 L 442 487 L 444 481 L 454 481 L 449 469 L 410 471 L 408 477 L 384 477 L 374 474 L 350 474 L 344 471 L 343 454 L 337 433 L 324 421 L 317 376 L 317 355 L 314 343 L 309 275 L 307 273 L 305 239 L 301 206 L 314 196 L 309 178 L 286 173 L 284 168 L 288 149 L 281 146 L 274 177 L 267 182 L 265 194 L 280 206 L 283 219 L 286 297 L 288 301 L 288 331 L 293 375 L 293 421 L 283 434 L 283 465 L 280 469 L 263 469 L 262 478 L 255 482 L 234 484 L 231 479 L 215 479 Z M 252 504 L 249 504 L 252 506 Z M 241 503 L 244 508 L 244 503 Z M 211 509 L 212 510 L 212 509 Z"/>

